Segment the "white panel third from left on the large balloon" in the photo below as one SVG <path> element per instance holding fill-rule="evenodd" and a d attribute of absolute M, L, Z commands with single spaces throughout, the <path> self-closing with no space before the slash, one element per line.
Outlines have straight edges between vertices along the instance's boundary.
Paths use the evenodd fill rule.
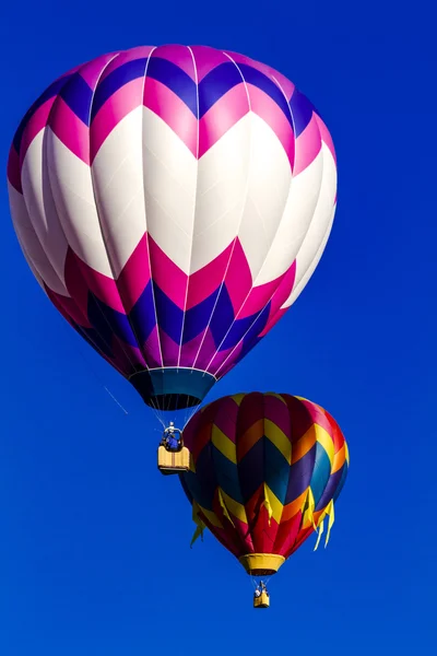
<path fill-rule="evenodd" d="M 56 209 L 74 253 L 113 277 L 94 199 L 91 168 L 47 128 L 47 160 Z"/>

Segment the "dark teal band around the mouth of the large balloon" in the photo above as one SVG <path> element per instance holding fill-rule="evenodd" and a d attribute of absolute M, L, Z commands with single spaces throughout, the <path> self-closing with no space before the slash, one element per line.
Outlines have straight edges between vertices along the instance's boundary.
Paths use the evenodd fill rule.
<path fill-rule="evenodd" d="M 137 372 L 129 383 L 147 406 L 165 412 L 199 406 L 216 378 L 201 370 L 168 366 Z"/>

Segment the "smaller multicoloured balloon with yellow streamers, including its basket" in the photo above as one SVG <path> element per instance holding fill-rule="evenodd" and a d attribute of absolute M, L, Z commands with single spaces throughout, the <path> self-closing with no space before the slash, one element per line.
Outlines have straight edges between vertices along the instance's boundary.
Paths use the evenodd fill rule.
<path fill-rule="evenodd" d="M 237 394 L 198 410 L 184 437 L 191 470 L 180 480 L 196 537 L 208 527 L 253 577 L 276 573 L 314 531 L 317 548 L 326 519 L 328 542 L 349 452 L 320 406 L 287 394 Z M 257 608 L 269 605 L 261 588 Z"/>

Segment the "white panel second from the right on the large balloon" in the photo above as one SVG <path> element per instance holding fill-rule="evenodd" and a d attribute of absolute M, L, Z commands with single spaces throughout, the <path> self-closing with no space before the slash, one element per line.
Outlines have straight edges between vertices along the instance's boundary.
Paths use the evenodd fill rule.
<path fill-rule="evenodd" d="M 293 178 L 281 224 L 257 277 L 257 285 L 275 280 L 296 259 L 315 220 L 322 175 L 323 155 L 320 152 L 305 171 Z M 317 234 L 314 237 L 317 238 Z M 316 248 L 318 245 L 319 242 Z"/>

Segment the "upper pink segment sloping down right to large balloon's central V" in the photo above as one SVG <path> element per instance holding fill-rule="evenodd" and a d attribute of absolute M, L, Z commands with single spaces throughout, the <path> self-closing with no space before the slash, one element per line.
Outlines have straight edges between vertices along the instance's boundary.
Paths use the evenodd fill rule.
<path fill-rule="evenodd" d="M 145 79 L 144 106 L 162 118 L 191 153 L 198 152 L 198 121 L 187 105 L 165 84 Z"/>

